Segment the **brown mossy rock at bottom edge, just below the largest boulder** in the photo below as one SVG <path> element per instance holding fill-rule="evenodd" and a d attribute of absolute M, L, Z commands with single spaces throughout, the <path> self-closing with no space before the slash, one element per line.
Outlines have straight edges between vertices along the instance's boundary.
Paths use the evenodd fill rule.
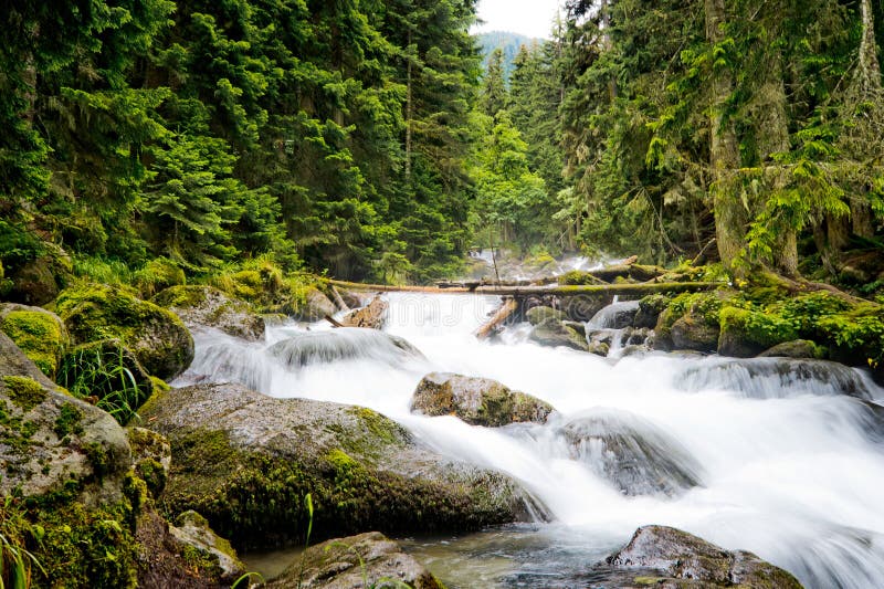
<path fill-rule="evenodd" d="M 352 589 L 411 587 L 444 589 L 413 557 L 379 532 L 311 546 L 276 579 L 274 589 Z"/>

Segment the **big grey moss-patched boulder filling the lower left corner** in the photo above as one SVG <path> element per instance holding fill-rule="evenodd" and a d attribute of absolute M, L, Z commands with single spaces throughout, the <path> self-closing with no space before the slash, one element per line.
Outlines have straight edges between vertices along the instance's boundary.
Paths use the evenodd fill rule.
<path fill-rule="evenodd" d="M 3 539 L 41 564 L 34 587 L 220 587 L 214 560 L 172 541 L 119 424 L 1 333 L 0 425 Z"/>

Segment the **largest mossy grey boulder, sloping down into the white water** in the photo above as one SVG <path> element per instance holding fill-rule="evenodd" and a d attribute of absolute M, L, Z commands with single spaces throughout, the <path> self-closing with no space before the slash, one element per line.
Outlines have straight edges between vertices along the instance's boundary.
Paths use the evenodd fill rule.
<path fill-rule="evenodd" d="M 538 508 L 507 476 L 444 459 L 365 408 L 198 385 L 155 396 L 141 417 L 171 443 L 165 504 L 238 548 L 303 539 L 308 493 L 319 538 L 477 529 Z"/>

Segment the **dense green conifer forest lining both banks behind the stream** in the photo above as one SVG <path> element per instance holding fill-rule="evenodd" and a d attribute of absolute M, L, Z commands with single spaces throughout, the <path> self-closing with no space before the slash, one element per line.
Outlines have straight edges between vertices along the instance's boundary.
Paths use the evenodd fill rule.
<path fill-rule="evenodd" d="M 475 12 L 12 2 L 4 288 L 38 260 L 420 282 L 490 244 L 834 276 L 881 251 L 880 1 L 572 0 L 508 76 Z"/>

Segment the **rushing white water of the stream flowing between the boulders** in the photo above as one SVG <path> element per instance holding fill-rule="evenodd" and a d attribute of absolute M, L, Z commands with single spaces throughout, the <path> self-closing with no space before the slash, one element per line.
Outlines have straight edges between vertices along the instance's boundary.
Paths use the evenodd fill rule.
<path fill-rule="evenodd" d="M 497 305 L 494 297 L 403 293 L 389 299 L 387 333 L 422 355 L 376 334 L 366 346 L 337 341 L 332 356 L 297 354 L 292 361 L 272 350 L 305 337 L 303 327 L 273 327 L 262 344 L 202 333 L 182 382 L 208 375 L 277 397 L 367 406 L 441 453 L 519 480 L 556 520 L 524 532 L 524 541 L 513 539 L 519 535 L 513 530 L 508 546 L 517 548 L 505 562 L 495 560 L 499 570 L 483 586 L 561 586 L 558 569 L 589 567 L 646 524 L 751 550 L 807 587 L 870 588 L 884 579 L 884 410 L 876 404 L 884 390 L 865 375 L 774 359 L 655 354 L 614 361 L 539 347 L 514 335 L 519 329 L 503 343 L 483 343 L 472 332 Z M 324 329 L 312 326 L 309 337 L 322 339 L 316 332 Z M 497 379 L 550 402 L 558 414 L 546 425 L 503 429 L 413 416 L 411 393 L 432 370 Z M 635 469 L 606 471 L 614 464 L 606 454 L 612 446 L 598 445 L 606 428 L 631 437 Z M 569 443 L 575 432 L 590 438 Z M 642 457 L 664 452 L 666 461 L 656 464 Z M 608 462 L 600 462 L 604 456 Z M 674 473 L 677 484 L 624 492 L 635 473 L 641 477 L 649 469 Z M 459 546 L 450 544 L 448 557 L 434 558 L 450 558 Z M 554 546 L 565 547 L 556 558 L 547 554 Z M 492 550 L 498 557 L 507 553 L 498 548 Z M 469 544 L 462 549 L 483 551 Z M 545 561 L 554 568 L 544 569 Z M 525 567 L 543 570 L 519 585 L 516 569 Z M 543 578 L 551 580 L 544 585 Z"/>

